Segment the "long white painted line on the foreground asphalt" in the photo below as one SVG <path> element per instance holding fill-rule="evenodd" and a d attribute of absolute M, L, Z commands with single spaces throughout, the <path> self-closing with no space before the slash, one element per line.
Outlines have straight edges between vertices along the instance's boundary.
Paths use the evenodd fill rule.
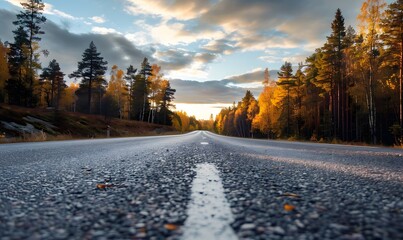
<path fill-rule="evenodd" d="M 210 163 L 200 163 L 196 172 L 182 239 L 238 239 L 229 225 L 234 216 L 225 198 L 217 168 Z"/>

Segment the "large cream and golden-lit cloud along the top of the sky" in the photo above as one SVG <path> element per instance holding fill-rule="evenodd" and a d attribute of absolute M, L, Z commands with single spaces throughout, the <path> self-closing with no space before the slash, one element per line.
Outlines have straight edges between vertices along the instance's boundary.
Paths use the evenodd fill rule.
<path fill-rule="evenodd" d="M 329 34 L 337 8 L 354 23 L 361 4 L 350 0 L 126 0 L 126 3 L 127 11 L 133 14 L 162 19 L 159 25 L 150 28 L 158 42 L 174 45 L 207 39 L 210 42 L 202 49 L 220 54 L 274 47 L 312 51 Z"/>

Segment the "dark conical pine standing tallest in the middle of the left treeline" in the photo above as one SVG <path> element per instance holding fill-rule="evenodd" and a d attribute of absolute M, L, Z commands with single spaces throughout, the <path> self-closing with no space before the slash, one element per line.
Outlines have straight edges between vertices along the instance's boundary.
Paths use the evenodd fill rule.
<path fill-rule="evenodd" d="M 78 69 L 69 75 L 70 78 L 81 78 L 79 90 L 86 90 L 88 93 L 86 107 L 88 113 L 92 113 L 93 91 L 98 90 L 101 99 L 101 91 L 105 91 L 107 85 L 104 74 L 108 62 L 100 55 L 94 42 L 91 42 L 89 48 L 84 51 L 82 60 L 78 62 Z"/>

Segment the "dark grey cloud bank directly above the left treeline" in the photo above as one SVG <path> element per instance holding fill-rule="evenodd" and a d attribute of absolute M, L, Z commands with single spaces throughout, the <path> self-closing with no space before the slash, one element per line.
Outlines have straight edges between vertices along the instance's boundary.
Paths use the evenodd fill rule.
<path fill-rule="evenodd" d="M 15 20 L 15 14 L 0 9 L 0 36 L 2 41 L 13 41 L 12 30 L 15 26 L 12 21 Z M 40 46 L 49 50 L 47 58 L 42 57 L 42 65 L 46 66 L 52 59 L 56 59 L 65 74 L 70 74 L 77 68 L 77 62 L 81 60 L 82 53 L 88 48 L 91 41 L 94 41 L 101 56 L 108 61 L 109 66 L 114 64 L 125 69 L 130 64 L 139 67 L 144 57 L 148 57 L 150 62 L 155 59 L 152 53 L 136 48 L 132 42 L 119 34 L 74 34 L 67 29 L 48 20 L 42 28 L 45 32 L 42 35 Z"/>

